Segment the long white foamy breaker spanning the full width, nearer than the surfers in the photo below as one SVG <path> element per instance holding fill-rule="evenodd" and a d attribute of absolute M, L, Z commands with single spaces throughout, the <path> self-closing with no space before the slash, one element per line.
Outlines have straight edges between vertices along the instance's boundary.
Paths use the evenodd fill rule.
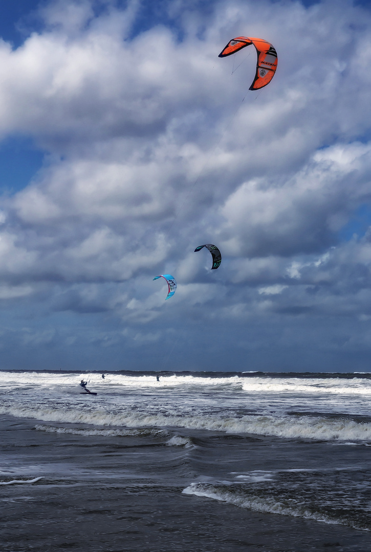
<path fill-rule="evenodd" d="M 250 433 L 292 439 L 371 441 L 371 423 L 320 416 L 164 416 L 140 412 L 112 413 L 94 409 L 2 406 L 0 414 L 45 422 L 83 423 L 112 427 L 183 427 L 223 433 Z"/>

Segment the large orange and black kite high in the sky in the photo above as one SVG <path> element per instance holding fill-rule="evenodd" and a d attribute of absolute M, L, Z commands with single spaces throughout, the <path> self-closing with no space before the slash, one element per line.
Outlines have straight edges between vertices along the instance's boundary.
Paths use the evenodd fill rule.
<path fill-rule="evenodd" d="M 242 48 L 253 44 L 257 50 L 258 61 L 255 78 L 249 90 L 258 90 L 270 83 L 277 68 L 277 52 L 274 47 L 262 38 L 250 38 L 249 36 L 237 36 L 230 40 L 219 57 L 227 57 L 235 54 Z"/>

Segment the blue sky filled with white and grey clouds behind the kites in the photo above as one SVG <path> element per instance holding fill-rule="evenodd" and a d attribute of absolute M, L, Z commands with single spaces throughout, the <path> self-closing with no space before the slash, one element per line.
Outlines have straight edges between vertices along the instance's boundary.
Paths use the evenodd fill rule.
<path fill-rule="evenodd" d="M 368 1 L 2 3 L 1 369 L 370 371 L 370 29 Z M 253 46 L 218 58 L 241 35 L 278 52 L 258 92 Z"/>

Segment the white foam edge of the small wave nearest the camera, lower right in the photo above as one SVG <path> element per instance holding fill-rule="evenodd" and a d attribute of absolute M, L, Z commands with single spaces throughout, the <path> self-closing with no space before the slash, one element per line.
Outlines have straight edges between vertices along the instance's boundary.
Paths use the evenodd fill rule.
<path fill-rule="evenodd" d="M 185 495 L 196 495 L 207 498 L 213 498 L 222 502 L 227 502 L 240 508 L 248 508 L 255 512 L 280 514 L 281 516 L 302 517 L 305 519 L 315 519 L 316 521 L 343 524 L 355 527 L 349 520 L 344 518 L 330 517 L 325 513 L 310 509 L 300 502 L 295 500 L 278 501 L 273 497 L 259 497 L 247 495 L 243 491 L 235 491 L 223 489 L 223 487 L 210 485 L 208 483 L 191 483 L 182 491 Z M 369 530 L 364 527 L 356 527 L 357 529 Z"/>

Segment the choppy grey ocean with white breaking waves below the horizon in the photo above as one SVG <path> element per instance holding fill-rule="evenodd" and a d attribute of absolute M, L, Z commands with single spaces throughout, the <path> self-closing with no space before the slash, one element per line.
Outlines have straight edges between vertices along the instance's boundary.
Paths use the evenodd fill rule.
<path fill-rule="evenodd" d="M 371 551 L 371 373 L 156 374 L 0 371 L 1 550 Z"/>

